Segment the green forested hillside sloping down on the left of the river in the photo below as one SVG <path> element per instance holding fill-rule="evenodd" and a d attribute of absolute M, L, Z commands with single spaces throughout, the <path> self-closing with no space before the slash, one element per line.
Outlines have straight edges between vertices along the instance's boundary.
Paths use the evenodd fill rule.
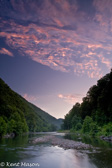
<path fill-rule="evenodd" d="M 48 116 L 52 120 L 53 117 Z M 48 122 L 46 117 L 47 113 L 12 91 L 0 79 L 0 136 L 12 132 L 18 135 L 28 131 L 56 130 L 55 123 Z"/>

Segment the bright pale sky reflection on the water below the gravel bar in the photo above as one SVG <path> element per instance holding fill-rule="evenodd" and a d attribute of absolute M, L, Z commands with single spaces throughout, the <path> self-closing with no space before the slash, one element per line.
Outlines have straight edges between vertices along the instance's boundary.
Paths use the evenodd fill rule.
<path fill-rule="evenodd" d="M 72 149 L 43 146 L 36 154 L 35 157 L 33 155 L 32 161 L 37 161 L 41 168 L 97 168 L 90 163 L 87 154 Z M 23 161 L 28 162 L 27 159 Z"/>

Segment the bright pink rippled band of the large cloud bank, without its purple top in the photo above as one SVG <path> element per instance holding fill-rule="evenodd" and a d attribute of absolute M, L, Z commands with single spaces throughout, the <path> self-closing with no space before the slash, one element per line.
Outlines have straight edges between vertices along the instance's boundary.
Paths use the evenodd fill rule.
<path fill-rule="evenodd" d="M 46 29 L 44 29 L 35 24 L 28 25 L 27 27 L 15 26 L 18 27 L 18 29 L 15 28 L 17 33 L 9 34 L 7 32 L 1 32 L 0 36 L 6 37 L 7 44 L 19 49 L 23 55 L 27 54 L 32 60 L 55 70 L 69 72 L 70 68 L 74 68 L 74 72 L 77 75 L 87 74 L 90 78 L 99 78 L 101 76 L 101 68 L 98 67 L 98 62 L 96 62 L 98 56 L 95 50 L 103 48 L 102 44 L 89 44 L 89 41 L 84 43 L 82 39 L 80 39 L 80 36 L 76 35 L 74 31 L 71 34 L 68 30 L 59 30 L 58 28 L 52 27 L 46 27 Z M 40 35 L 44 34 L 46 38 L 39 39 L 35 33 L 28 34 L 27 32 L 30 32 L 30 28 L 32 28 L 35 33 L 39 33 Z M 52 38 L 52 31 L 53 34 L 58 34 L 58 38 Z M 63 43 L 63 40 L 69 44 L 67 47 L 60 45 L 61 42 Z M 39 44 L 43 47 L 37 50 Z M 46 45 L 49 47 L 46 47 Z M 73 47 L 77 48 L 81 46 L 83 46 L 82 52 L 78 50 L 75 55 L 78 54 L 79 58 L 84 59 L 83 62 L 78 63 L 73 59 L 73 57 L 75 58 Z M 46 57 L 46 55 L 49 56 Z M 109 60 L 107 61 L 106 58 L 104 58 L 101 63 L 105 63 L 107 67 L 110 67 Z"/>

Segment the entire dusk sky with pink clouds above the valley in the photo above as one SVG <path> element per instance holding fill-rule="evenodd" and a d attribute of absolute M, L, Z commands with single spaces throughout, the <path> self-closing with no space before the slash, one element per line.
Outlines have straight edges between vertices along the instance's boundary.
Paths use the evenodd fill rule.
<path fill-rule="evenodd" d="M 0 0 L 0 77 L 56 118 L 112 66 L 112 0 Z"/>

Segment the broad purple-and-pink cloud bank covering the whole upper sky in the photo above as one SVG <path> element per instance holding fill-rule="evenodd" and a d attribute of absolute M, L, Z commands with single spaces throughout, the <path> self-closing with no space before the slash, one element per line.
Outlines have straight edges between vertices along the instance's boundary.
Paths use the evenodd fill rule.
<path fill-rule="evenodd" d="M 0 38 L 54 70 L 100 78 L 112 66 L 111 4 L 90 0 L 84 8 L 78 0 L 4 0 Z"/>

